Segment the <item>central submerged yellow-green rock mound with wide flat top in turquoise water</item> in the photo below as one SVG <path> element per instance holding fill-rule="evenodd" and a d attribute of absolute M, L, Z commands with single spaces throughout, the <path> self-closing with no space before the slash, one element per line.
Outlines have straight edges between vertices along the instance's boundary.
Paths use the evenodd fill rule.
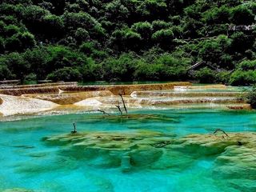
<path fill-rule="evenodd" d="M 174 134 L 138 130 L 62 134 L 43 138 L 43 141 L 50 145 L 66 146 L 66 150 L 60 151 L 60 154 L 85 158 L 91 166 L 120 166 L 125 172 L 131 169 L 130 166 L 148 166 L 158 161 L 162 156 L 162 149 L 155 148 L 152 144 L 173 137 Z"/>

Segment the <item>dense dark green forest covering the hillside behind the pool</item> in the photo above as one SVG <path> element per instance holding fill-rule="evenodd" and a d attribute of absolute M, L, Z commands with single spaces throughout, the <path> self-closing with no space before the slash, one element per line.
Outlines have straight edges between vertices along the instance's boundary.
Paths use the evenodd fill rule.
<path fill-rule="evenodd" d="M 0 80 L 256 83 L 254 0 L 1 2 Z"/>

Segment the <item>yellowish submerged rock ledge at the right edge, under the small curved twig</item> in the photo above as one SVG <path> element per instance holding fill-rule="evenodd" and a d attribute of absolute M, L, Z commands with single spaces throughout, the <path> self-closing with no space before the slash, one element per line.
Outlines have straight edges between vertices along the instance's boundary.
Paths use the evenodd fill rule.
<path fill-rule="evenodd" d="M 214 178 L 226 179 L 227 183 L 230 179 L 246 179 L 247 182 L 256 179 L 256 133 L 254 132 L 228 133 L 228 136 L 191 134 L 174 139 L 173 143 L 174 145 L 166 147 L 186 154 L 194 154 L 196 158 L 216 155 L 212 172 Z M 254 188 L 251 185 L 248 187 Z"/>

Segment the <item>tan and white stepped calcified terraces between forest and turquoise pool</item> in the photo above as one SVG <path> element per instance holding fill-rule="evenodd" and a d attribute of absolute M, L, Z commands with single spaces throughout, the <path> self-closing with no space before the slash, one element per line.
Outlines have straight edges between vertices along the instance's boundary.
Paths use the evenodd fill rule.
<path fill-rule="evenodd" d="M 190 82 L 139 85 L 78 86 L 77 82 L 2 86 L 0 113 L 72 113 L 91 110 L 116 111 L 120 95 L 129 108 L 222 107 L 250 109 L 236 87 L 224 85 L 193 86 Z"/>

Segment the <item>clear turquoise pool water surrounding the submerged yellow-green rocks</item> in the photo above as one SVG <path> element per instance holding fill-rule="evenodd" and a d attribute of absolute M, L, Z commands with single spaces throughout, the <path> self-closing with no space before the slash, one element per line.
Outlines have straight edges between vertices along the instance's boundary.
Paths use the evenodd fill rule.
<path fill-rule="evenodd" d="M 215 157 L 170 154 L 177 166 L 154 169 L 97 166 L 102 162 L 63 155 L 63 146 L 46 146 L 43 137 L 66 134 L 72 122 L 78 131 L 157 130 L 178 137 L 192 133 L 255 131 L 256 113 L 222 110 L 143 110 L 135 114 L 166 115 L 166 121 L 106 121 L 102 114 L 69 114 L 0 122 L 0 190 L 26 188 L 45 191 L 239 191 L 212 174 Z M 95 117 L 96 116 L 96 117 Z M 168 118 L 173 121 L 168 121 Z M 162 163 L 165 163 L 163 159 Z"/>

